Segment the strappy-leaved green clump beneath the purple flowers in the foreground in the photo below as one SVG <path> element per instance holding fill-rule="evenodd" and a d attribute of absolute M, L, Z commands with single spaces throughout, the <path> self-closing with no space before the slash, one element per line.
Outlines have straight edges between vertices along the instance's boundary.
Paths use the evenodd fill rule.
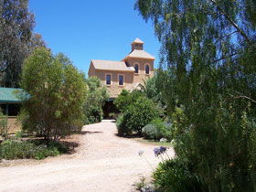
<path fill-rule="evenodd" d="M 193 173 L 193 166 L 177 158 L 160 163 L 153 173 L 153 178 L 157 191 L 206 191 Z"/>

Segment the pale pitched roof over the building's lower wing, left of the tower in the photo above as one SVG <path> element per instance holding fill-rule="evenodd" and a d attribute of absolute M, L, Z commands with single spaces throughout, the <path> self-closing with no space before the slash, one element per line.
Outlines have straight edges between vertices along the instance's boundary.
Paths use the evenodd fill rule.
<path fill-rule="evenodd" d="M 95 69 L 101 70 L 119 70 L 119 71 L 134 71 L 133 67 L 127 67 L 124 61 L 113 60 L 91 60 Z"/>

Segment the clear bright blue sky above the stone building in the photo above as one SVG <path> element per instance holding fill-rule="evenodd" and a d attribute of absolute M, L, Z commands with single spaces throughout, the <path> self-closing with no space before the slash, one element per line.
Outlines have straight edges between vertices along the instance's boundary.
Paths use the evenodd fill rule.
<path fill-rule="evenodd" d="M 35 32 L 54 53 L 63 52 L 80 70 L 88 72 L 91 59 L 121 60 L 136 37 L 155 56 L 160 43 L 151 23 L 133 9 L 135 0 L 30 0 L 36 16 Z"/>

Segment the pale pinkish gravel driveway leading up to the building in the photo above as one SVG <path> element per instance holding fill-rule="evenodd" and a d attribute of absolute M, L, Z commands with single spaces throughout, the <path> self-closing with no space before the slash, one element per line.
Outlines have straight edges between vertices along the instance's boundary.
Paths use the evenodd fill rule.
<path fill-rule="evenodd" d="M 2 162 L 0 191 L 134 191 L 133 184 L 150 176 L 160 160 L 153 153 L 154 145 L 116 133 L 110 121 L 87 125 L 74 137 L 79 146 L 72 155 Z M 174 155 L 172 148 L 168 155 Z"/>

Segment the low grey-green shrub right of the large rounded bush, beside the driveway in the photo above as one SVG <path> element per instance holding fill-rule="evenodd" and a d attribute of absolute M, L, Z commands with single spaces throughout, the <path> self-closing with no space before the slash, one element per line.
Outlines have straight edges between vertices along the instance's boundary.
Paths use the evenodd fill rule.
<path fill-rule="evenodd" d="M 145 139 L 160 140 L 161 138 L 166 138 L 168 141 L 171 141 L 172 139 L 171 124 L 165 123 L 160 118 L 145 125 L 142 133 Z"/>

